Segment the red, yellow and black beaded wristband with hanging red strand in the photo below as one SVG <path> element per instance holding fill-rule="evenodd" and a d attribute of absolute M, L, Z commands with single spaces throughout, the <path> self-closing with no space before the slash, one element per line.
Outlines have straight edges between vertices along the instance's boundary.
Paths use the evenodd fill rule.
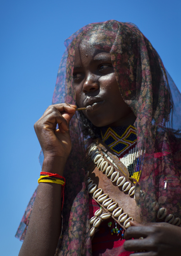
<path fill-rule="evenodd" d="M 47 172 L 41 171 L 40 178 L 38 179 L 38 184 L 40 182 L 56 183 L 56 184 L 62 185 L 62 196 L 61 197 L 62 197 L 62 208 L 63 208 L 65 178 L 63 176 L 60 176 L 57 173 L 55 174 L 55 173 L 47 173 Z"/>

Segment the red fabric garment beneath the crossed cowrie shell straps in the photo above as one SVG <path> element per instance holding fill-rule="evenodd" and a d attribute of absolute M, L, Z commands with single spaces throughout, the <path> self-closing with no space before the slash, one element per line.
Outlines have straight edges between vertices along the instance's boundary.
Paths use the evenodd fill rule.
<path fill-rule="evenodd" d="M 95 211 L 99 208 L 98 203 L 89 196 L 90 218 L 94 216 Z M 108 221 L 103 221 L 92 240 L 92 256 L 129 256 L 131 252 L 124 250 L 125 240 L 120 238 L 120 236 L 111 235 Z M 122 252 L 119 253 L 120 251 Z"/>

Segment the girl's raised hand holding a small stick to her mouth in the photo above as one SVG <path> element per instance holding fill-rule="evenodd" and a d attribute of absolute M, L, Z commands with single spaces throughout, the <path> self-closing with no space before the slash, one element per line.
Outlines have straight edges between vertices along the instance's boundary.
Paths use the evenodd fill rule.
<path fill-rule="evenodd" d="M 68 127 L 75 109 L 75 105 L 66 103 L 51 105 L 35 123 L 44 158 L 61 157 L 66 162 L 72 146 Z"/>

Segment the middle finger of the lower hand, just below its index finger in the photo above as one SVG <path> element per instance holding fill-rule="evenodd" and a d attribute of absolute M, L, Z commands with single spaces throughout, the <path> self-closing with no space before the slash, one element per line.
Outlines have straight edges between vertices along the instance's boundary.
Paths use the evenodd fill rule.
<path fill-rule="evenodd" d="M 149 239 L 131 239 L 124 242 L 126 251 L 152 251 L 152 244 Z"/>

